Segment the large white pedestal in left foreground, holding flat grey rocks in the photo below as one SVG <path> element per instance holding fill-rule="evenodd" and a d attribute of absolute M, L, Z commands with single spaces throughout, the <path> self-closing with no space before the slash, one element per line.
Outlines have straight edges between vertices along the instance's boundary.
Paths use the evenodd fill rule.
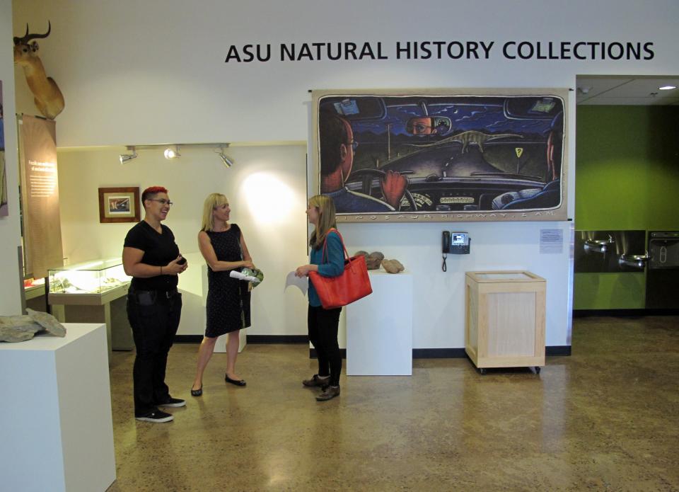
<path fill-rule="evenodd" d="M 105 491 L 115 481 L 104 324 L 0 343 L 0 481 L 7 491 Z"/>

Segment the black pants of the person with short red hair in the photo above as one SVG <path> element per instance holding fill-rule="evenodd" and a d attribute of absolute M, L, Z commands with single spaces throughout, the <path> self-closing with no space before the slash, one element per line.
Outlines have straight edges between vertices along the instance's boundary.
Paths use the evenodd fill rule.
<path fill-rule="evenodd" d="M 182 314 L 182 294 L 175 291 L 168 298 L 164 292 L 141 292 L 154 295 L 141 296 L 139 291 L 127 294 L 127 318 L 137 348 L 132 372 L 136 416 L 156 410 L 170 398 L 165 370 Z"/>

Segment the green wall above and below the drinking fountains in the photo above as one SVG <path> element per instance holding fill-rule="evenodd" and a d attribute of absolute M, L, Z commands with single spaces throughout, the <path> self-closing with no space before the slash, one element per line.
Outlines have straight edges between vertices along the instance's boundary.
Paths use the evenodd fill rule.
<path fill-rule="evenodd" d="M 678 133 L 675 106 L 579 105 L 576 229 L 679 230 Z M 577 273 L 574 309 L 643 308 L 644 279 Z"/>

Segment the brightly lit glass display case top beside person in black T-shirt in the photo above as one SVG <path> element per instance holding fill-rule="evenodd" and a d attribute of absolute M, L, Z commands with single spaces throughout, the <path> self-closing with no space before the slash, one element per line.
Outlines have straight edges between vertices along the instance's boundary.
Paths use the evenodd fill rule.
<path fill-rule="evenodd" d="M 94 260 L 47 270 L 50 294 L 105 294 L 116 287 L 127 287 L 131 278 L 122 268 L 121 258 Z"/>

